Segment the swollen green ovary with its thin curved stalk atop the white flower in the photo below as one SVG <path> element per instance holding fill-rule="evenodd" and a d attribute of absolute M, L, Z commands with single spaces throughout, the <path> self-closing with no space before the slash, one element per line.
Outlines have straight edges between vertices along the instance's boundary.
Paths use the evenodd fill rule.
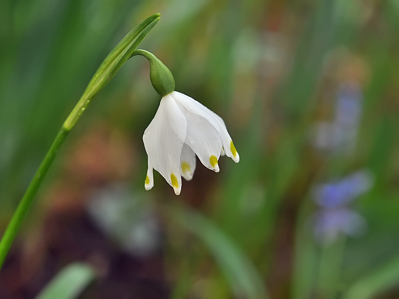
<path fill-rule="evenodd" d="M 175 79 L 169 69 L 153 53 L 134 50 L 131 57 L 141 55 L 150 62 L 150 80 L 155 91 L 164 97 L 175 91 Z"/>

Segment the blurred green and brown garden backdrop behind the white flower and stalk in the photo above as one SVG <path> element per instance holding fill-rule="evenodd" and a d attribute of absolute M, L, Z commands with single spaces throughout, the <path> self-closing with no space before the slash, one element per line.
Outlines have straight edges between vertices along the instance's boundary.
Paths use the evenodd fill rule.
<path fill-rule="evenodd" d="M 225 121 L 240 162 L 145 191 L 159 105 L 130 59 L 59 152 L 3 271 L 33 298 L 65 265 L 80 298 L 398 298 L 399 1 L 4 0 L 0 231 L 110 50 L 139 45 Z M 89 283 L 90 281 L 88 281 Z"/>

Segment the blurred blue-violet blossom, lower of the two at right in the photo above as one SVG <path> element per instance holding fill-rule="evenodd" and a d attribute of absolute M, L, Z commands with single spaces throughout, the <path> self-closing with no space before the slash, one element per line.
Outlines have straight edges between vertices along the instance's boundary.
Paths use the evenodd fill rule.
<path fill-rule="evenodd" d="M 319 205 L 315 213 L 314 234 L 322 244 L 332 243 L 339 234 L 359 236 L 366 229 L 366 221 L 346 205 L 373 186 L 373 176 L 360 170 L 336 183 L 320 184 L 313 189 L 313 200 Z"/>

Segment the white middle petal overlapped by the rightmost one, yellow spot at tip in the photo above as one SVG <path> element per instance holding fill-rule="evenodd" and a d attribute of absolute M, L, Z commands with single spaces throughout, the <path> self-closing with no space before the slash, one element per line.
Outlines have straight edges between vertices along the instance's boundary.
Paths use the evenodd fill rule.
<path fill-rule="evenodd" d="M 194 99 L 178 92 L 170 94 L 179 105 L 187 119 L 187 135 L 184 143 L 189 145 L 200 158 L 202 164 L 219 172 L 219 160 L 222 140 L 219 125 L 209 113 L 209 109 Z"/>

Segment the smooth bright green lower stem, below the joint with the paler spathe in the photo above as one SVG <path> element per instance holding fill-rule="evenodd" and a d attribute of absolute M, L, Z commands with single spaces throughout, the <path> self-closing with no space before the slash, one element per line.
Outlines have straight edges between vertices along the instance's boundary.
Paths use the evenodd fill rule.
<path fill-rule="evenodd" d="M 14 241 L 19 227 L 21 226 L 22 220 L 29 210 L 29 207 L 31 206 L 32 201 L 35 198 L 36 192 L 38 191 L 44 176 L 50 168 L 50 165 L 54 160 L 56 153 L 58 152 L 68 133 L 69 130 L 66 130 L 64 126 L 61 128 L 60 132 L 58 132 L 53 143 L 51 144 L 50 149 L 44 157 L 44 160 L 40 164 L 39 169 L 36 171 L 31 184 L 29 185 L 21 201 L 19 202 L 17 210 L 11 218 L 10 223 L 6 228 L 6 231 L 2 237 L 2 241 L 0 242 L 0 270 L 2 269 L 4 260 L 6 259 L 7 253 L 11 247 L 11 244 Z"/>

